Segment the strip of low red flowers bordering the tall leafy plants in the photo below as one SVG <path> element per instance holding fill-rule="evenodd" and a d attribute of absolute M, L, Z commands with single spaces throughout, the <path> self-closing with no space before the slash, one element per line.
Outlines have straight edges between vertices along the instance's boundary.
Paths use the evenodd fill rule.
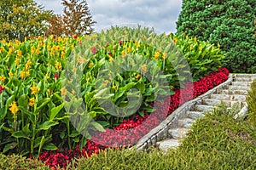
<path fill-rule="evenodd" d="M 154 103 L 154 113 L 146 116 L 135 116 L 132 120 L 125 120 L 118 127 L 107 129 L 105 133 L 96 133 L 87 141 L 83 150 L 55 150 L 44 152 L 39 160 L 44 161 L 46 165 L 55 167 L 66 167 L 67 163 L 74 157 L 90 156 L 97 154 L 99 150 L 107 147 L 119 148 L 130 147 L 137 144 L 138 140 L 147 134 L 151 129 L 157 127 L 160 122 L 165 120 L 166 116 L 172 114 L 180 105 L 194 99 L 195 97 L 206 93 L 209 89 L 218 86 L 226 81 L 229 77 L 229 71 L 220 68 L 218 71 L 210 73 L 207 77 L 202 78 L 198 82 L 189 82 L 185 84 L 185 88 L 176 89 L 175 94 L 168 96 L 164 102 Z M 192 93 L 191 93 L 192 92 Z"/>

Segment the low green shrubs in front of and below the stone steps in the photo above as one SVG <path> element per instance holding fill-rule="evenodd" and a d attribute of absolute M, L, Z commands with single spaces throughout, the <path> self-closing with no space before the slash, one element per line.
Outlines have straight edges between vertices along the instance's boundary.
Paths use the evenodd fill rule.
<path fill-rule="evenodd" d="M 197 120 L 177 150 L 104 150 L 76 161 L 80 169 L 255 169 L 256 134 L 226 105 Z"/>

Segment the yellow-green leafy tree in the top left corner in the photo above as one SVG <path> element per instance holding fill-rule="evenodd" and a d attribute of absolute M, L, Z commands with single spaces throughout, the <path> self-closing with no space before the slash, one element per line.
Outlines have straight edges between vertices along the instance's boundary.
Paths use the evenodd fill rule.
<path fill-rule="evenodd" d="M 33 0 L 1 0 L 0 10 L 0 38 L 7 40 L 42 35 L 52 14 Z"/>

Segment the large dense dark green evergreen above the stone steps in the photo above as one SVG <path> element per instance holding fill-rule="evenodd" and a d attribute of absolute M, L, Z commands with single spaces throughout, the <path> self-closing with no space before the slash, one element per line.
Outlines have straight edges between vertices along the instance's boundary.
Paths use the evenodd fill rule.
<path fill-rule="evenodd" d="M 256 72 L 254 0 L 183 0 L 177 34 L 220 44 L 231 72 Z"/>

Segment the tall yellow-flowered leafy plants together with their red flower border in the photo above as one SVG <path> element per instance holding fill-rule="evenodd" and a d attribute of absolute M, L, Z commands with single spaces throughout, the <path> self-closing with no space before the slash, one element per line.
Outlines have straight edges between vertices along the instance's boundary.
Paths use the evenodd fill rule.
<path fill-rule="evenodd" d="M 129 38 L 125 39 L 124 35 Z M 159 40 L 162 44 L 156 44 Z M 152 43 L 154 45 L 150 45 Z M 90 59 L 78 55 L 78 50 Z M 196 38 L 156 35 L 141 28 L 113 27 L 106 32 L 84 37 L 74 35 L 73 38 L 32 37 L 26 42 L 3 40 L 0 55 L 1 151 L 4 154 L 38 156 L 48 165 L 62 167 L 73 157 L 90 156 L 107 146 L 136 144 L 179 105 L 224 82 L 229 74 L 220 68 L 224 55 L 213 45 L 198 42 Z M 102 75 L 108 75 L 102 69 L 104 66 L 115 66 L 115 62 L 121 64 L 122 59 L 137 62 L 141 67 L 126 71 L 122 65 L 125 72 L 112 75 L 113 80 L 107 77 L 97 79 L 100 71 Z M 77 70 L 73 70 L 73 65 Z M 155 67 L 160 71 L 151 69 Z M 189 67 L 191 71 L 187 70 Z M 68 71 L 71 69 L 73 74 L 70 75 Z M 155 77 L 163 76 L 161 78 L 166 84 L 154 88 L 159 79 L 148 81 L 145 72 Z M 82 76 L 73 77 L 78 73 Z M 62 75 L 66 78 L 61 78 Z M 80 80 L 82 85 L 74 88 L 73 81 L 68 79 L 71 77 Z M 109 91 L 99 95 L 97 88 L 108 88 Z M 139 89 L 141 95 L 137 91 L 130 93 L 131 88 Z M 73 98 L 77 94 L 79 98 Z M 156 94 L 163 97 L 155 101 Z M 110 99 L 120 107 L 129 105 L 129 97 L 139 99 L 141 96 L 142 106 L 134 114 L 129 110 L 122 111 L 121 114 L 125 115 L 117 118 L 96 102 L 98 96 L 107 97 L 108 100 L 100 99 L 102 103 Z M 80 111 L 81 102 L 84 102 L 84 107 L 81 107 L 83 114 L 90 115 L 96 122 L 70 122 L 70 116 Z M 131 105 L 131 108 L 135 106 Z M 84 131 L 83 136 L 83 129 L 75 128 L 77 125 L 90 125 L 90 130 L 109 130 L 97 132 L 95 136 Z M 137 135 L 125 138 L 127 129 Z"/>

